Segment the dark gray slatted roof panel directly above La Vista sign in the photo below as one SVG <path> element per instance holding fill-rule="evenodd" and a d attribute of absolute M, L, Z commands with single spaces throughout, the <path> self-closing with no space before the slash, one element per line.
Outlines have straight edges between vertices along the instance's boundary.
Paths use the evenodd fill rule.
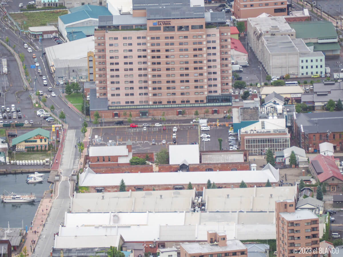
<path fill-rule="evenodd" d="M 186 19 L 204 18 L 204 7 L 147 8 L 146 19 Z"/>

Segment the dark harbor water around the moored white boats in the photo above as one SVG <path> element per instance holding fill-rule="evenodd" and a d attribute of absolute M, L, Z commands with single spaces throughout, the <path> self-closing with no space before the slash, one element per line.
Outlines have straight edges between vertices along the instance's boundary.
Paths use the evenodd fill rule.
<path fill-rule="evenodd" d="M 32 193 L 37 197 L 32 203 L 12 204 L 2 203 L 0 200 L 0 228 L 7 228 L 8 222 L 11 228 L 21 228 L 22 220 L 24 220 L 24 229 L 25 225 L 29 228 L 36 214 L 40 197 L 43 196 L 44 191 L 49 190 L 50 184 L 47 183 L 49 173 L 44 174 L 43 183 L 36 184 L 27 184 L 26 176 L 27 173 L 0 175 L 0 194 L 6 190 L 16 194 Z M 7 194 L 5 192 L 5 195 Z"/>

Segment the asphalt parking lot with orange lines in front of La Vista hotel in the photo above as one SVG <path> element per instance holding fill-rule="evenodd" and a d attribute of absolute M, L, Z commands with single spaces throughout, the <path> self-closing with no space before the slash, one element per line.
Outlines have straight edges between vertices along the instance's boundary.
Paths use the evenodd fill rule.
<path fill-rule="evenodd" d="M 200 131 L 200 133 L 210 134 L 210 141 L 202 141 L 200 138 L 199 141 L 199 129 L 197 124 L 189 125 L 178 125 L 176 134 L 176 144 L 191 144 L 193 142 L 200 143 L 200 150 L 218 150 L 219 143 L 218 138 L 222 138 L 222 148 L 224 150 L 229 150 L 228 142 L 228 129 L 225 123 L 216 126 L 216 123 L 209 124 L 211 129 L 210 131 Z M 95 135 L 102 137 L 102 142 L 99 145 L 104 145 L 113 140 L 117 142 L 118 145 L 124 145 L 130 139 L 132 142 L 132 151 L 133 152 L 158 152 L 162 147 L 167 147 L 173 143 L 173 127 L 174 125 L 166 125 L 166 130 L 163 130 L 162 127 L 147 127 L 146 131 L 143 131 L 143 127 L 129 128 L 116 126 L 114 128 L 95 128 L 92 131 L 92 140 L 95 138 Z M 118 137 L 118 138 L 117 138 Z M 234 136 L 237 138 L 237 136 Z M 151 144 L 152 140 L 155 140 L 155 144 Z M 166 144 L 162 143 L 165 140 Z M 236 140 L 238 142 L 238 140 Z M 93 143 L 92 143 L 93 144 Z M 95 143 L 95 146 L 98 145 Z"/>

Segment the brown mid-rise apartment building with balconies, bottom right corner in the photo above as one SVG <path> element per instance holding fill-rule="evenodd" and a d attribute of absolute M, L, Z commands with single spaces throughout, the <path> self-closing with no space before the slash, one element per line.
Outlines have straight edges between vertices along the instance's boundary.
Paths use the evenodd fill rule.
<path fill-rule="evenodd" d="M 279 257 L 319 257 L 319 218 L 310 210 L 295 210 L 294 200 L 275 202 L 276 250 Z M 306 254 L 301 249 L 310 248 Z"/>

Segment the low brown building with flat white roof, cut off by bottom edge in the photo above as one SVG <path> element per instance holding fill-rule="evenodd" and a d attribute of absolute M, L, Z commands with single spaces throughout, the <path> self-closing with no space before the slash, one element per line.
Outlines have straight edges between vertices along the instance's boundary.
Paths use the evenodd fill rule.
<path fill-rule="evenodd" d="M 226 233 L 207 231 L 206 243 L 180 245 L 181 257 L 248 256 L 247 247 L 239 240 L 227 240 Z"/>

